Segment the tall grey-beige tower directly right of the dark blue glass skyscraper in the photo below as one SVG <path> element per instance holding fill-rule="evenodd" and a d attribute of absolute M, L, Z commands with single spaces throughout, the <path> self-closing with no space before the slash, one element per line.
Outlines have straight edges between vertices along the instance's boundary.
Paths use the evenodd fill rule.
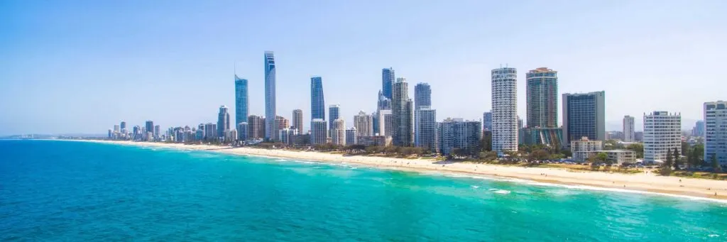
<path fill-rule="evenodd" d="M 406 78 L 396 78 L 391 93 L 391 115 L 393 118 L 393 145 L 414 145 L 414 113 L 411 98 L 409 98 L 409 84 Z"/>

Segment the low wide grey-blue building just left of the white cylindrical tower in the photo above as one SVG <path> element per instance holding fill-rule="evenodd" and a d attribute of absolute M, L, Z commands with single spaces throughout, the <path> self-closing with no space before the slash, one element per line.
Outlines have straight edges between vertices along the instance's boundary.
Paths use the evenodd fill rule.
<path fill-rule="evenodd" d="M 438 124 L 439 150 L 447 156 L 452 150 L 465 150 L 467 153 L 478 153 L 482 139 L 482 123 L 480 121 L 464 121 L 462 118 L 446 118 Z"/>

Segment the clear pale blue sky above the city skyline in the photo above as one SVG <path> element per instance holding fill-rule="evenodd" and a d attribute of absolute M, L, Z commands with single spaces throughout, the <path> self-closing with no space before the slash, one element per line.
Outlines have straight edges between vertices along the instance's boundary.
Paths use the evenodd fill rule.
<path fill-rule="evenodd" d="M 393 67 L 412 97 L 431 85 L 439 120 L 480 119 L 490 70 L 508 65 L 523 119 L 525 73 L 548 67 L 561 93 L 606 91 L 608 130 L 624 115 L 640 130 L 653 110 L 691 127 L 703 102 L 727 100 L 726 12 L 699 0 L 0 1 L 0 135 L 214 122 L 220 105 L 234 112 L 234 62 L 249 113 L 264 115 L 265 50 L 286 118 L 310 120 L 310 76 L 322 76 L 326 107 L 350 126 Z"/>

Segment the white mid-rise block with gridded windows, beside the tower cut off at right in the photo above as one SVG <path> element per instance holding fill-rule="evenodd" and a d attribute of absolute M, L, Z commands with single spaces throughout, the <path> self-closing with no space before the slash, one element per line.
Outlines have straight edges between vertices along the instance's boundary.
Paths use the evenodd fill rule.
<path fill-rule="evenodd" d="M 643 114 L 643 161 L 666 161 L 667 151 L 681 153 L 681 115 L 665 111 Z M 706 149 L 706 148 L 705 148 Z"/>

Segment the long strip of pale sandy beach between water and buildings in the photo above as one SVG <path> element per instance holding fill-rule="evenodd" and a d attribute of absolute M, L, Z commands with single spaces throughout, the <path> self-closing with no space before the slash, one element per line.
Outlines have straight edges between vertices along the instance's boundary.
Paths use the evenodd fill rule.
<path fill-rule="evenodd" d="M 630 190 L 669 195 L 684 195 L 727 201 L 727 181 L 706 180 L 688 177 L 663 177 L 652 172 L 621 174 L 606 172 L 571 172 L 566 169 L 532 168 L 521 166 L 500 166 L 489 164 L 450 163 L 419 159 L 385 158 L 374 156 L 343 156 L 334 153 L 318 153 L 297 150 L 266 150 L 259 148 L 229 148 L 214 145 L 183 145 L 160 142 L 130 142 L 87 140 L 119 145 L 177 148 L 186 150 L 209 150 L 220 153 L 271 156 L 313 161 L 346 162 L 382 169 L 399 169 L 413 172 L 454 172 L 479 174 L 495 177 L 509 177 L 558 185 L 583 185 L 607 189 Z M 715 195 L 716 193 L 716 195 Z"/>

